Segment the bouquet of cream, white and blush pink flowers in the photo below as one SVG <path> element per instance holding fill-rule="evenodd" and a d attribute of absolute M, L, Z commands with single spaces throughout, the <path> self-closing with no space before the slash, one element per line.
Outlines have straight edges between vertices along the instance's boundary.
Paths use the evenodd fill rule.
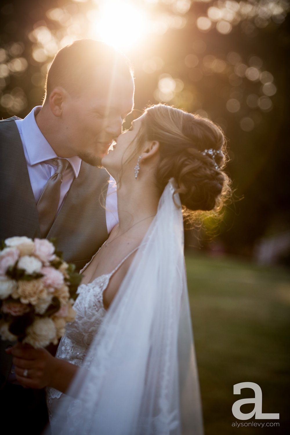
<path fill-rule="evenodd" d="M 0 248 L 0 335 L 34 348 L 57 344 L 67 322 L 81 275 L 62 260 L 54 241 L 12 237 Z"/>

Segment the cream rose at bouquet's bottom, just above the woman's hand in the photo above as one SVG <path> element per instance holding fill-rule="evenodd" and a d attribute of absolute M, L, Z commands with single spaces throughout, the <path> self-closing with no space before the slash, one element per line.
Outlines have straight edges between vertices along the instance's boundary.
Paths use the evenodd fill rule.
<path fill-rule="evenodd" d="M 44 348 L 55 341 L 57 329 L 49 317 L 37 319 L 26 330 L 23 343 L 28 343 L 33 348 Z"/>

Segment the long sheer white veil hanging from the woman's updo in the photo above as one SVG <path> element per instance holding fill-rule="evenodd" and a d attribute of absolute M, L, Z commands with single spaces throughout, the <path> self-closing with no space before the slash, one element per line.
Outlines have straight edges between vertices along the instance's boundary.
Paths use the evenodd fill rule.
<path fill-rule="evenodd" d="M 171 179 L 82 368 L 51 421 L 53 434 L 203 435 L 183 256 Z"/>

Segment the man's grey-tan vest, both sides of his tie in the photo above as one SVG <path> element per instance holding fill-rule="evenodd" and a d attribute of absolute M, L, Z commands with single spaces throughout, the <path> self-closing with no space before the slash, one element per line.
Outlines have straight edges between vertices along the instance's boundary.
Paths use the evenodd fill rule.
<path fill-rule="evenodd" d="M 20 134 L 17 117 L 0 121 L 0 240 L 13 236 L 40 238 L 39 220 Z M 105 208 L 99 197 L 109 175 L 105 169 L 82 161 L 80 172 L 47 238 L 57 238 L 57 248 L 64 259 L 79 271 L 107 239 Z M 11 358 L 0 342 L 0 386 L 10 371 Z M 6 357 L 6 358 L 5 358 Z"/>

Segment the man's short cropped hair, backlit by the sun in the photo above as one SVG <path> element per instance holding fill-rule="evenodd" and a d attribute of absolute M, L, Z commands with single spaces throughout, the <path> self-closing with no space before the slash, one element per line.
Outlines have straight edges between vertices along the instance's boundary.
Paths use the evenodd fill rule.
<path fill-rule="evenodd" d="M 57 86 L 80 94 L 96 80 L 97 68 L 108 70 L 107 78 L 121 75 L 132 80 L 133 67 L 118 50 L 101 41 L 80 39 L 60 49 L 47 72 L 45 97 Z"/>

